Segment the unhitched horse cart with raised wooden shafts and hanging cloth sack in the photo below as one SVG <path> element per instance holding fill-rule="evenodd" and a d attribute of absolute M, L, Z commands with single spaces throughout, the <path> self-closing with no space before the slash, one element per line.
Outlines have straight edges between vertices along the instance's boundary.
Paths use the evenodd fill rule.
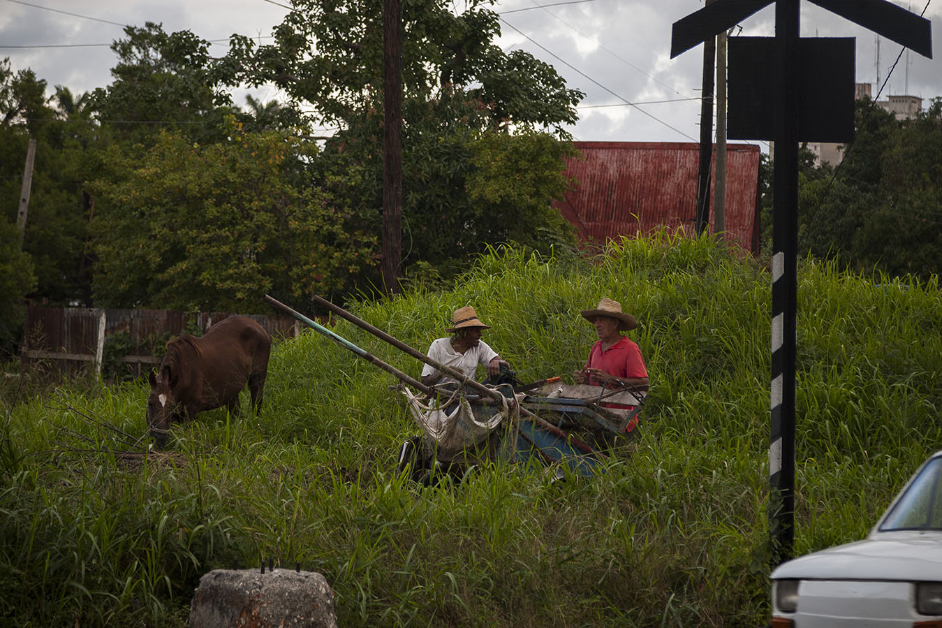
<path fill-rule="evenodd" d="M 270 296 L 265 299 L 398 377 L 396 388 L 422 430 L 422 436 L 402 444 L 398 456 L 399 470 L 408 470 L 415 480 L 430 483 L 445 475 L 460 479 L 469 469 L 488 461 L 546 465 L 555 477 L 566 472 L 590 475 L 638 425 L 646 396 L 640 390 L 569 386 L 558 377 L 527 385 L 509 371 L 494 382 L 477 382 L 343 308 L 314 297 L 318 305 L 461 383 L 425 386 Z"/>

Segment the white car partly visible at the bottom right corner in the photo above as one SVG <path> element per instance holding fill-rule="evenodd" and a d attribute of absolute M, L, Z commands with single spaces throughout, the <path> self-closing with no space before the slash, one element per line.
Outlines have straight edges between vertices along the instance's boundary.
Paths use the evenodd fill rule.
<path fill-rule="evenodd" d="M 861 541 L 771 573 L 772 628 L 942 628 L 942 452 Z"/>

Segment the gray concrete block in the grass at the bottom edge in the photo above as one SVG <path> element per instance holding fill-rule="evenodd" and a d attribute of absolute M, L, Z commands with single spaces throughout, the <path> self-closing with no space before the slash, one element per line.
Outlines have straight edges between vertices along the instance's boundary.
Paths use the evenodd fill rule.
<path fill-rule="evenodd" d="M 293 570 L 212 570 L 200 578 L 189 628 L 336 628 L 323 575 Z"/>

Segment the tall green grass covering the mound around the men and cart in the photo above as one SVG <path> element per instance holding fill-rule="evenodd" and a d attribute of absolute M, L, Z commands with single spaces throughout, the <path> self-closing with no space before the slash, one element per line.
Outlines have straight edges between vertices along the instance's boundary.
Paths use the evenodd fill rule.
<path fill-rule="evenodd" d="M 829 264 L 799 273 L 804 553 L 865 535 L 939 448 L 942 296 Z M 145 433 L 144 382 L 5 397 L 0 623 L 183 626 L 204 572 L 273 558 L 322 572 L 344 626 L 764 624 L 765 269 L 661 234 L 586 260 L 494 251 L 453 289 L 350 309 L 425 351 L 473 305 L 535 380 L 582 365 L 594 332 L 579 310 L 602 297 L 641 322 L 652 388 L 638 437 L 591 478 L 520 464 L 414 485 L 395 471 L 417 428 L 393 377 L 314 332 L 276 345 L 260 416 L 247 401 L 238 418 L 203 413 L 144 458 L 122 457 Z M 418 376 L 414 358 L 334 329 Z"/>

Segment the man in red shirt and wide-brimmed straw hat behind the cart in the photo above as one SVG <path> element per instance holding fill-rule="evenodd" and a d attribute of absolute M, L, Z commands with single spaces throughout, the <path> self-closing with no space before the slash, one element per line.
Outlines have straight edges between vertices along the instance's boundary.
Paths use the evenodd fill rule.
<path fill-rule="evenodd" d="M 624 388 L 647 392 L 649 380 L 642 351 L 621 332 L 638 326 L 638 321 L 622 311 L 622 304 L 602 299 L 595 309 L 582 310 L 582 316 L 595 325 L 598 341 L 589 351 L 589 359 L 582 371 L 573 372 L 577 384 Z M 633 409 L 633 406 L 620 406 Z M 626 426 L 630 432 L 637 424 L 634 417 Z"/>

